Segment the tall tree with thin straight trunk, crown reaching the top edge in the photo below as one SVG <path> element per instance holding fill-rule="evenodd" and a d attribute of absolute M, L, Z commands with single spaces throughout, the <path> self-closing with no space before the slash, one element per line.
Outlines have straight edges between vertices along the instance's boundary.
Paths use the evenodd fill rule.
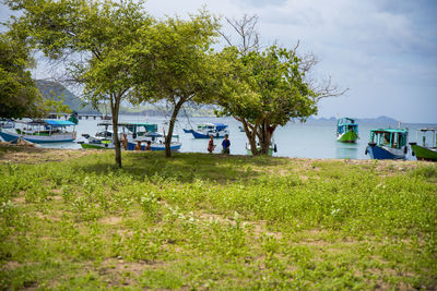
<path fill-rule="evenodd" d="M 11 9 L 23 11 L 12 23 L 26 40 L 52 60 L 62 61 L 70 81 L 82 84 L 92 104 L 107 101 L 113 114 L 116 163 L 121 167 L 118 138 L 120 102 L 131 98 L 135 85 L 133 56 L 144 51 L 139 43 L 153 20 L 142 2 L 93 0 L 9 0 Z M 71 57 L 71 58 L 70 58 Z M 146 60 L 146 58 L 143 58 Z"/>

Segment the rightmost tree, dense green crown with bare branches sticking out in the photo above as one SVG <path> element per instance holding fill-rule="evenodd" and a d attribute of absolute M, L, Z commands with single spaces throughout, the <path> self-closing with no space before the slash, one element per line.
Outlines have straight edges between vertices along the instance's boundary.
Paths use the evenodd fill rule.
<path fill-rule="evenodd" d="M 221 114 L 232 116 L 243 123 L 252 155 L 268 154 L 273 132 L 290 120 L 302 122 L 317 113 L 320 98 L 343 93 L 331 86 L 316 86 L 308 73 L 317 63 L 312 54 L 299 57 L 298 44 L 293 49 L 271 46 L 263 50 L 255 29 L 258 17 L 245 15 L 241 21 L 227 22 L 240 38 L 222 52 L 227 65 L 222 71 L 223 86 L 217 104 Z M 260 148 L 257 147 L 257 138 Z"/>

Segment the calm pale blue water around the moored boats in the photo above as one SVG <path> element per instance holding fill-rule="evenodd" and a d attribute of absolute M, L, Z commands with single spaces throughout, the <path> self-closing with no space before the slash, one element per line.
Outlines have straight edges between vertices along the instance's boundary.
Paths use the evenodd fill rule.
<path fill-rule="evenodd" d="M 120 116 L 120 121 L 149 122 L 158 124 L 158 131 L 162 132 L 165 124 L 165 118 L 147 118 Z M 94 135 L 97 132 L 97 123 L 101 120 L 80 120 L 76 125 L 78 138 L 83 133 Z M 189 121 L 180 119 L 175 128 L 175 133 L 179 134 L 179 141 L 182 143 L 180 151 L 185 153 L 206 153 L 208 140 L 194 140 L 192 134 L 184 133 L 182 129 L 196 128 L 202 122 L 222 122 L 229 126 L 231 153 L 246 155 L 246 134 L 240 132 L 240 123 L 232 118 L 191 118 Z M 279 128 L 274 133 L 274 142 L 277 146 L 277 153 L 274 156 L 280 157 L 300 157 L 300 158 L 351 158 L 368 159 L 364 154 L 370 129 L 385 128 L 387 124 L 365 124 L 358 123 L 359 140 L 356 144 L 338 143 L 335 140 L 335 122 L 311 121 L 308 123 L 288 123 Z M 391 125 L 393 126 L 393 125 Z M 437 124 L 402 124 L 410 130 L 409 142 L 416 141 L 416 129 L 437 128 Z M 429 140 L 430 141 L 430 140 Z M 216 140 L 215 153 L 220 153 L 222 140 Z M 45 147 L 81 148 L 75 143 L 47 144 Z M 415 159 L 409 150 L 408 159 Z"/>

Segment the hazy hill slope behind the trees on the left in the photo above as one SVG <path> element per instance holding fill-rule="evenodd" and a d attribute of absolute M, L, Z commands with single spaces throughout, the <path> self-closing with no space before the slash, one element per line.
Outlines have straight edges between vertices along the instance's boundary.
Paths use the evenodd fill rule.
<path fill-rule="evenodd" d="M 71 110 L 79 113 L 96 114 L 99 113 L 93 109 L 91 105 L 83 106 L 83 101 L 72 94 L 68 88 L 59 84 L 58 82 L 36 80 L 36 87 L 39 89 L 44 98 L 56 100 L 59 96 L 64 97 L 64 105 L 68 105 Z"/>

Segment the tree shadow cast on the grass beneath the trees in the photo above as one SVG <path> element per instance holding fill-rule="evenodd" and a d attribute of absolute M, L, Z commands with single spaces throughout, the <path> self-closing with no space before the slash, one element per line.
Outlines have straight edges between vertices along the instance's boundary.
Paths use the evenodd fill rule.
<path fill-rule="evenodd" d="M 166 158 L 164 153 L 151 151 L 123 153 L 122 169 L 115 167 L 114 155 L 105 155 L 105 159 L 97 158 L 92 162 L 88 159 L 86 163 L 76 163 L 74 167 L 76 170 L 96 174 L 120 171 L 133 175 L 139 181 L 160 177 L 182 183 L 203 180 L 224 184 L 255 179 L 264 173 L 265 167 L 283 162 L 272 157 L 188 153 L 175 153 L 170 158 Z"/>

